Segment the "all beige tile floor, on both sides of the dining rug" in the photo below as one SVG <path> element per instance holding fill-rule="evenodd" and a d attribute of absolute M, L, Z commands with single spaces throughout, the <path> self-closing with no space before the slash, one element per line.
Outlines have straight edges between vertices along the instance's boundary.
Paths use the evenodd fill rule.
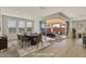
<path fill-rule="evenodd" d="M 83 48 L 82 40 L 64 39 L 61 42 L 53 41 L 51 44 L 40 49 L 30 54 L 26 54 L 25 57 L 81 57 L 86 56 L 86 49 Z M 12 43 L 11 43 L 12 44 Z M 9 44 L 9 46 L 11 46 Z M 17 51 L 14 47 L 9 47 L 5 52 L 0 52 L 0 56 L 4 57 L 19 57 Z"/>

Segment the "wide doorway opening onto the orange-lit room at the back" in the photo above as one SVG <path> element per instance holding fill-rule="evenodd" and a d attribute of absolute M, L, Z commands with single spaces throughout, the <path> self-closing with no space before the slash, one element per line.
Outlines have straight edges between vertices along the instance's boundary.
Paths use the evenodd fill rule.
<path fill-rule="evenodd" d="M 40 21 L 40 31 L 42 34 L 69 35 L 70 22 L 61 18 L 51 18 Z"/>

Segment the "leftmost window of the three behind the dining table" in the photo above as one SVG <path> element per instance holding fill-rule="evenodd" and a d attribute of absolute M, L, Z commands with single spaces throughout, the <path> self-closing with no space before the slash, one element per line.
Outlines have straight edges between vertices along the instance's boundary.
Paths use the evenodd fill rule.
<path fill-rule="evenodd" d="M 16 33 L 16 21 L 13 18 L 8 18 L 8 28 L 9 28 L 9 34 Z"/>

